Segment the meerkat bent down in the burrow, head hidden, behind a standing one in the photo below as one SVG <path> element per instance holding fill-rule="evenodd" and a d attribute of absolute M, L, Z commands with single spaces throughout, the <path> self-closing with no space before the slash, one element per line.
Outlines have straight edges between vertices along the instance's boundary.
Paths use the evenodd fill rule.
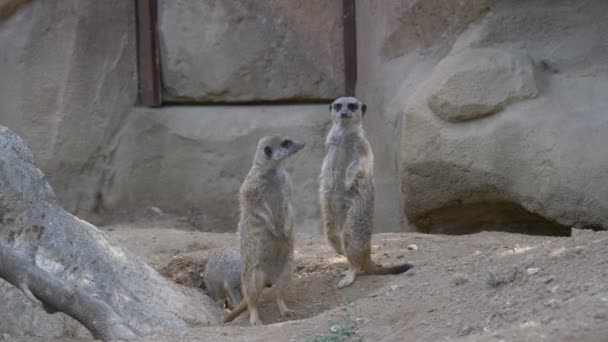
<path fill-rule="evenodd" d="M 241 302 L 241 252 L 238 248 L 219 248 L 211 254 L 203 281 L 209 296 L 232 309 Z"/>

